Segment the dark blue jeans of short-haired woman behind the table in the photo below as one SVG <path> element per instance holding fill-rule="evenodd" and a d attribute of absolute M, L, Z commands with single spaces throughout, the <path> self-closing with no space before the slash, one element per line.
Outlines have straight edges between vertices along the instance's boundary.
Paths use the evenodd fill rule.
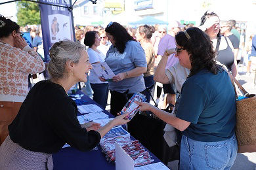
<path fill-rule="evenodd" d="M 93 100 L 105 109 L 108 100 L 108 83 L 91 83 L 91 88 L 93 88 Z"/>

